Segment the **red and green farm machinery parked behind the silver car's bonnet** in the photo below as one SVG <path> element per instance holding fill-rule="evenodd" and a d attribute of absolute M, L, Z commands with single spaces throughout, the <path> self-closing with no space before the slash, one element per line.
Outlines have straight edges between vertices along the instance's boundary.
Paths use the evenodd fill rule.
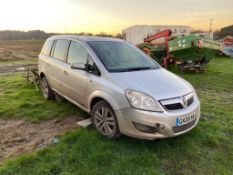
<path fill-rule="evenodd" d="M 220 50 L 221 43 L 204 39 L 196 35 L 171 37 L 171 30 L 164 30 L 146 37 L 143 44 L 139 44 L 146 53 L 167 67 L 169 63 L 178 64 L 181 72 L 205 71 L 205 66 Z M 164 38 L 162 43 L 153 40 Z M 164 49 L 164 50 L 163 50 Z"/>

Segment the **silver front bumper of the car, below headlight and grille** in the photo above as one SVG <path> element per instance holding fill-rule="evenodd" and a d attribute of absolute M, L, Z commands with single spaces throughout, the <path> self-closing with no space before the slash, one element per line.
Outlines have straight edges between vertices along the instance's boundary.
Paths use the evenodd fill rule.
<path fill-rule="evenodd" d="M 179 128 L 176 127 L 176 118 L 188 116 L 196 112 L 196 119 L 187 123 L 179 131 Z M 115 111 L 118 125 L 121 133 L 140 139 L 157 139 L 157 138 L 167 138 L 174 137 L 181 134 L 184 134 L 194 128 L 200 118 L 200 102 L 198 99 L 195 99 L 195 102 L 185 109 L 174 110 L 174 111 L 164 111 L 160 112 L 150 112 L 137 110 L 134 108 L 125 108 Z M 157 128 L 154 133 L 145 133 L 139 131 L 135 128 L 133 123 L 142 124 L 149 127 Z M 159 126 L 159 127 L 158 127 Z M 174 132 L 175 129 L 178 129 L 178 132 Z"/>

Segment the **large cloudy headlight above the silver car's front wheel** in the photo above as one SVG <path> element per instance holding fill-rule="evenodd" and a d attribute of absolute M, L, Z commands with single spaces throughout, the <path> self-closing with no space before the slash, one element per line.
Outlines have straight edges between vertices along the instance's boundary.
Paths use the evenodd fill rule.
<path fill-rule="evenodd" d="M 126 90 L 125 94 L 129 103 L 134 108 L 147 111 L 163 112 L 163 109 L 159 103 L 149 95 L 134 90 Z"/>

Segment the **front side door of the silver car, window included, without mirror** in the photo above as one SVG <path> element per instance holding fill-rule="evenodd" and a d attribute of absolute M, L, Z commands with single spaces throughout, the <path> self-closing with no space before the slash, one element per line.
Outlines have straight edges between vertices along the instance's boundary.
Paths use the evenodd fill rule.
<path fill-rule="evenodd" d="M 86 64 L 87 57 L 88 53 L 83 45 L 77 41 L 71 41 L 63 74 L 62 91 L 65 96 L 82 106 L 85 106 L 89 74 L 85 70 L 72 69 L 71 65 Z"/>

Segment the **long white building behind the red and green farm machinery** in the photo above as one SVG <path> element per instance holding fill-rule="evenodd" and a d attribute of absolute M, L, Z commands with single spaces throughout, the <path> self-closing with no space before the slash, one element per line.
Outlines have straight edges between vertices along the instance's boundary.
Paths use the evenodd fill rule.
<path fill-rule="evenodd" d="M 174 25 L 135 25 L 122 31 L 123 39 L 134 45 L 144 42 L 144 38 L 158 33 L 162 30 L 170 29 L 173 36 L 187 35 L 191 32 L 190 26 Z"/>

